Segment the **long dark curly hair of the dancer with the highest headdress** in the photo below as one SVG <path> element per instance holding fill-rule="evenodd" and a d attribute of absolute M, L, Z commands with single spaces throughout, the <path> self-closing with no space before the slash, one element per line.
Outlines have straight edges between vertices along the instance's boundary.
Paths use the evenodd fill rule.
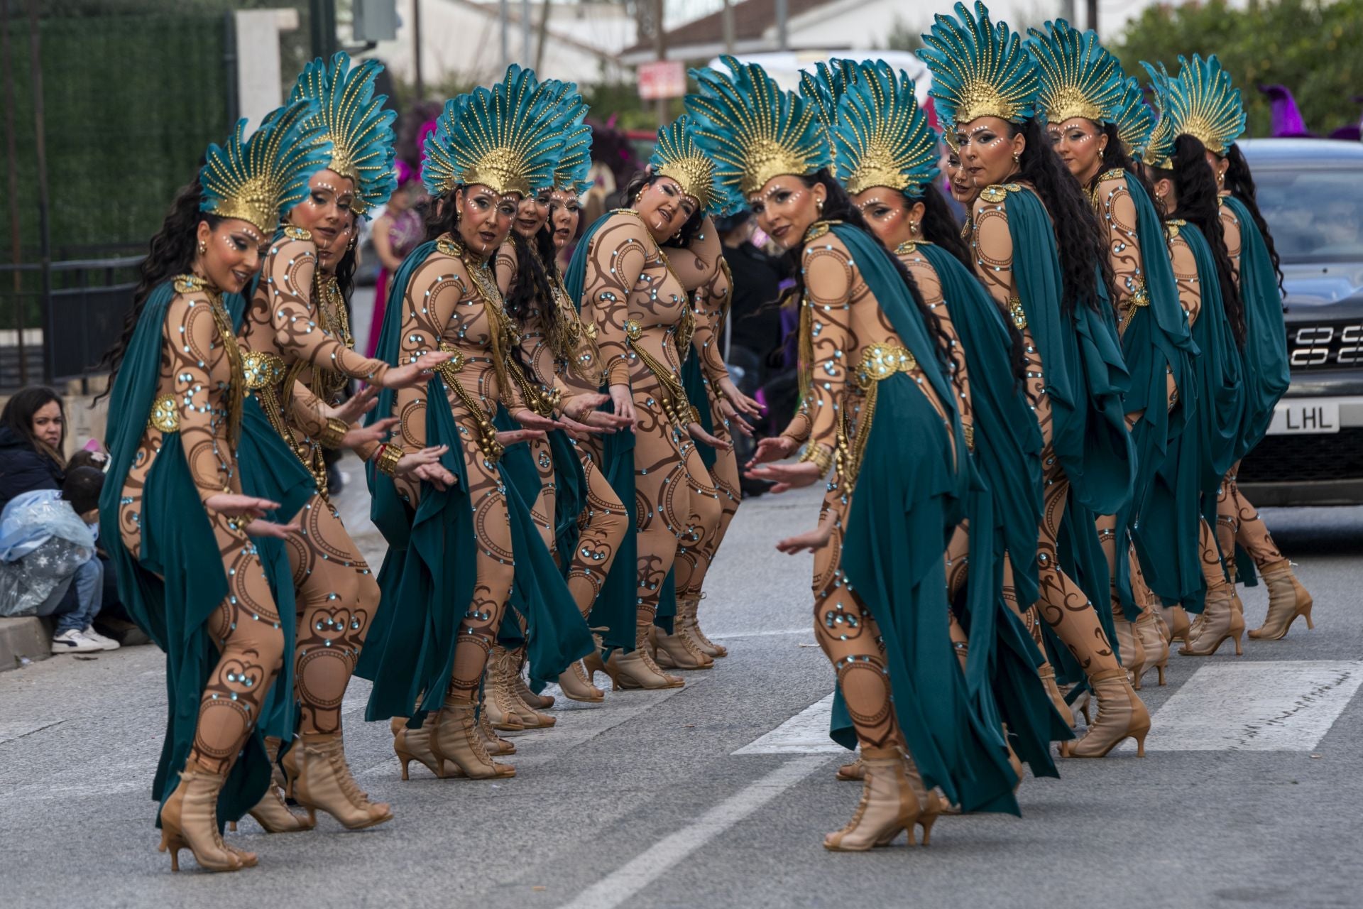
<path fill-rule="evenodd" d="M 1018 161 L 1017 179 L 1030 183 L 1051 215 L 1055 245 L 1060 253 L 1063 297 L 1060 312 L 1073 315 L 1077 303 L 1097 309 L 1100 288 L 1112 294 L 1112 266 L 1103 238 L 1107 233 L 1084 196 L 1074 174 L 1051 147 L 1040 120 L 1009 124 L 1009 138 L 1021 135 L 1026 147 Z"/>

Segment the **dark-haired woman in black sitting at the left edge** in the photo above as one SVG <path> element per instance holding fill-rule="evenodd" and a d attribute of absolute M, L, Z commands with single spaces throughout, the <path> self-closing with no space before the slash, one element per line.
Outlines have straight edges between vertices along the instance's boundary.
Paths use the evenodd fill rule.
<path fill-rule="evenodd" d="M 20 388 L 0 412 L 0 510 L 20 492 L 60 489 L 67 416 L 45 386 Z"/>

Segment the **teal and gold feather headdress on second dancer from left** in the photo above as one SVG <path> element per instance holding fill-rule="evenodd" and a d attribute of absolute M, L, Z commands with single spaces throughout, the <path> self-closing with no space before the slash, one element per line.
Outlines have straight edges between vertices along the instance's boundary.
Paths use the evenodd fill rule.
<path fill-rule="evenodd" d="M 398 188 L 394 169 L 393 121 L 397 110 L 383 105 L 388 95 L 373 94 L 373 82 L 383 72 L 378 60 L 364 60 L 350 68 L 343 52 L 328 67 L 318 57 L 298 75 L 289 101 L 318 102 L 318 121 L 331 142 L 327 168 L 354 183 L 354 210 L 371 211 Z"/>

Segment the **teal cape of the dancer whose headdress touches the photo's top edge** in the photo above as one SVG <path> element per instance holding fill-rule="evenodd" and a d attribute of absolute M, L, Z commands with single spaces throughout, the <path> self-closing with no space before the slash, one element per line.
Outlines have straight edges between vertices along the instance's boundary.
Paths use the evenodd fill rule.
<path fill-rule="evenodd" d="M 1107 557 L 1094 522 L 1097 515 L 1122 514 L 1131 500 L 1135 451 L 1126 431 L 1123 403 L 1130 373 L 1101 282 L 1096 308 L 1073 300 L 1070 315 L 1065 315 L 1062 303 L 1069 292 L 1045 207 L 1032 189 L 1009 185 L 1015 187 L 1005 192 L 1013 278 L 1028 330 L 1041 354 L 1051 403 L 1051 447 L 1070 484 L 1058 556 L 1060 567 L 1093 604 L 1115 650 Z M 1045 634 L 1058 677 L 1081 681 L 1084 673 L 1050 626 Z"/>

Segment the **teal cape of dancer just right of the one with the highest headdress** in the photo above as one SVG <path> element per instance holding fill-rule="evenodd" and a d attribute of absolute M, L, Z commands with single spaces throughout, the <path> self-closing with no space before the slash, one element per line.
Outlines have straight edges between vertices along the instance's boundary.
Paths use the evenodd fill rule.
<path fill-rule="evenodd" d="M 1176 450 L 1179 436 L 1187 428 L 1190 414 L 1197 406 L 1193 388 L 1193 357 L 1197 345 L 1189 330 L 1187 313 L 1179 303 L 1179 286 L 1174 278 L 1174 266 L 1167 252 L 1164 222 L 1154 211 L 1145 187 L 1133 174 L 1126 173 L 1127 192 L 1135 203 L 1135 233 L 1141 245 L 1141 271 L 1149 305 L 1130 308 L 1126 331 L 1122 333 L 1122 354 L 1131 375 L 1124 406 L 1127 413 L 1144 412 L 1131 428 L 1131 443 L 1135 448 L 1135 485 L 1131 503 L 1118 518 L 1119 553 L 1116 560 L 1116 590 L 1122 612 L 1129 621 L 1141 613 L 1131 594 L 1130 561 L 1124 557 L 1127 533 L 1139 525 L 1146 510 L 1154 478 L 1164 467 L 1171 450 Z M 1167 380 L 1172 376 L 1179 388 L 1180 406 L 1168 406 Z M 1195 462 L 1184 466 L 1195 472 Z M 1152 590 L 1168 590 L 1179 586 L 1180 560 L 1186 552 L 1175 552 L 1176 542 L 1169 537 L 1163 541 L 1146 537 L 1142 559 L 1145 581 Z"/>

